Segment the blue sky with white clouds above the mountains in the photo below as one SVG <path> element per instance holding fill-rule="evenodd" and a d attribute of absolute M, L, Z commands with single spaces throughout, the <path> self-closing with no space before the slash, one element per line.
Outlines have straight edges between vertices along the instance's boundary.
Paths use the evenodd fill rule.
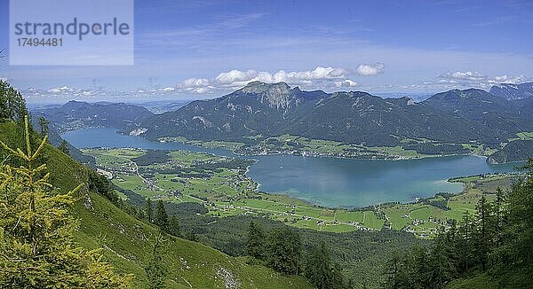
<path fill-rule="evenodd" d="M 2 49 L 9 13 L 0 2 Z M 526 0 L 137 0 L 134 66 L 4 58 L 0 77 L 29 101 L 214 98 L 253 80 L 375 94 L 487 89 L 533 77 L 531 15 Z"/>

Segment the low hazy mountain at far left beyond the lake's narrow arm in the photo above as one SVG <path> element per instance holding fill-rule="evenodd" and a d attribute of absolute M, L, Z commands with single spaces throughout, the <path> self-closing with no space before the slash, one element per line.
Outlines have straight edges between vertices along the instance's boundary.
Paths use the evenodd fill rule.
<path fill-rule="evenodd" d="M 60 107 L 38 109 L 32 113 L 43 115 L 52 121 L 60 132 L 90 127 L 133 129 L 141 121 L 154 115 L 138 105 L 107 102 L 91 104 L 74 100 Z"/>

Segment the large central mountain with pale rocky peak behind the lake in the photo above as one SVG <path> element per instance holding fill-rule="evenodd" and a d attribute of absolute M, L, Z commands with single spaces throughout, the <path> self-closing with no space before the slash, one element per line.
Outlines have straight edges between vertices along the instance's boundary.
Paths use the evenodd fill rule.
<path fill-rule="evenodd" d="M 438 105 L 430 105 L 433 103 L 384 99 L 366 92 L 302 91 L 283 82 L 251 82 L 227 96 L 194 101 L 177 111 L 156 115 L 143 121 L 141 127 L 147 129 L 145 136 L 149 138 L 243 141 L 289 133 L 369 145 L 395 145 L 402 137 L 500 142 L 500 136 L 480 121 L 450 115 L 434 107 Z"/>

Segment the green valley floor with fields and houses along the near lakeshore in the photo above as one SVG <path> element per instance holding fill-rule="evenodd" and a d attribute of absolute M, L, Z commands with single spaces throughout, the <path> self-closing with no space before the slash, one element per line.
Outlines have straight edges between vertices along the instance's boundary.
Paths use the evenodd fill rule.
<path fill-rule="evenodd" d="M 482 195 L 495 198 L 497 187 L 508 188 L 513 174 L 471 176 L 451 180 L 465 184 L 458 195 L 439 194 L 415 203 L 391 203 L 360 209 L 317 207 L 306 201 L 258 190 L 246 176 L 251 163 L 203 152 L 88 149 L 99 168 L 123 190 L 172 203 L 197 202 L 207 215 L 262 215 L 298 228 L 346 232 L 405 230 L 433 238 L 450 220 L 473 212 Z M 103 172 L 102 172 L 103 173 Z M 121 197 L 128 198 L 121 193 Z"/>

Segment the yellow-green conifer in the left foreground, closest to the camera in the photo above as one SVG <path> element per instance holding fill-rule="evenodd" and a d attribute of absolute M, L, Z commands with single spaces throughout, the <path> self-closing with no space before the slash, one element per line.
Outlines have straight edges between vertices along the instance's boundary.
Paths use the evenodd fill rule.
<path fill-rule="evenodd" d="M 2 288 L 103 288 L 124 287 L 130 276 L 115 275 L 101 261 L 99 250 L 86 251 L 74 242 L 78 221 L 68 214 L 76 189 L 62 194 L 48 183 L 46 165 L 35 166 L 46 137 L 32 152 L 25 118 L 26 152 L 7 152 L 26 165 L 0 168 L 0 287 Z M 43 176 L 44 174 L 44 176 Z"/>

